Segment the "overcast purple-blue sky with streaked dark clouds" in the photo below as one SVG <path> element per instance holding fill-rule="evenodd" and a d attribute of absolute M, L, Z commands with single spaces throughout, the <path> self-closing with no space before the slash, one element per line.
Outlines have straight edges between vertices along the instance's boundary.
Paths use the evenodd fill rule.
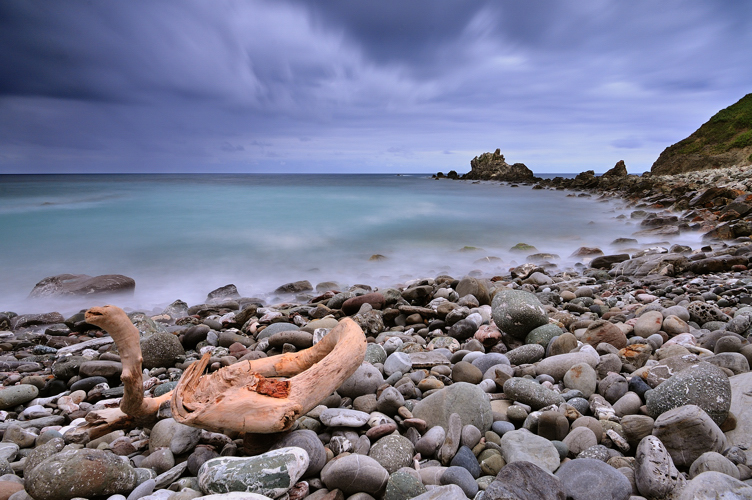
<path fill-rule="evenodd" d="M 749 92 L 746 0 L 0 2 L 3 173 L 640 173 Z"/>

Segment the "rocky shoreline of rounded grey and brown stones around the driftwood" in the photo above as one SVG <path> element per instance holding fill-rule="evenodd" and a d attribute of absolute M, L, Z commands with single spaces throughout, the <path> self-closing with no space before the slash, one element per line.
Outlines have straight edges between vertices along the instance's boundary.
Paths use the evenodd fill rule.
<path fill-rule="evenodd" d="M 227 285 L 130 312 L 150 396 L 205 352 L 215 371 L 361 326 L 366 361 L 263 453 L 169 406 L 150 429 L 72 439 L 123 394 L 112 339 L 83 314 L 0 313 L 0 499 L 752 499 L 752 167 L 618 170 L 529 185 L 621 196 L 646 236 L 706 244 L 625 238 L 571 269 L 538 254 L 503 276 L 295 282 L 273 304 Z"/>

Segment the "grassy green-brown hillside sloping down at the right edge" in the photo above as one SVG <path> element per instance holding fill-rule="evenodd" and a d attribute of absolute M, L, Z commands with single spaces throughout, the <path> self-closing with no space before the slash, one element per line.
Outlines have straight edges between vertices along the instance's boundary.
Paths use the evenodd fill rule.
<path fill-rule="evenodd" d="M 722 109 L 692 135 L 669 146 L 650 171 L 672 175 L 752 164 L 752 94 Z"/>

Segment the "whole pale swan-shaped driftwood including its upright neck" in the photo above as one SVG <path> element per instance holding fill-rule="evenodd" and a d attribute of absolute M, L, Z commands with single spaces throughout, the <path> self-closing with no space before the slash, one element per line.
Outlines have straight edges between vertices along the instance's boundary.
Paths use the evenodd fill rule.
<path fill-rule="evenodd" d="M 204 374 L 210 355 L 191 364 L 175 390 L 144 398 L 140 334 L 116 306 L 93 307 L 86 322 L 107 331 L 123 364 L 120 408 L 90 412 L 87 425 L 66 433 L 74 441 L 95 439 L 116 429 L 148 424 L 170 401 L 178 422 L 231 436 L 289 430 L 295 420 L 335 391 L 363 362 L 366 339 L 345 318 L 309 349 L 243 361 Z M 291 378 L 288 378 L 291 377 Z"/>

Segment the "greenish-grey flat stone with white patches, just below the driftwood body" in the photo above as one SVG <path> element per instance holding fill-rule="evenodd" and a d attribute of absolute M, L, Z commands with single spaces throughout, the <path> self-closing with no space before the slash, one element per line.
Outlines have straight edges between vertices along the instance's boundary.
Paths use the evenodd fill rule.
<path fill-rule="evenodd" d="M 206 494 L 244 491 L 271 498 L 284 495 L 308 468 L 302 448 L 272 450 L 254 457 L 218 457 L 204 462 L 198 483 Z"/>

